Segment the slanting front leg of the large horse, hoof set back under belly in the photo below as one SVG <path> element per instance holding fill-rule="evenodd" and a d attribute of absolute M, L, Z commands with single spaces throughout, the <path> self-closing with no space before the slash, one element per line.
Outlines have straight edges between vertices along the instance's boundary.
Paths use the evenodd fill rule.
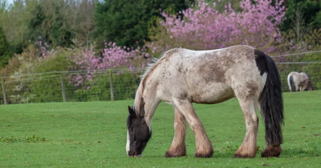
<path fill-rule="evenodd" d="M 195 157 L 211 157 L 214 150 L 208 139 L 201 120 L 196 115 L 193 105 L 188 100 L 175 100 L 175 105 L 185 116 L 189 126 L 195 134 L 196 153 Z"/>

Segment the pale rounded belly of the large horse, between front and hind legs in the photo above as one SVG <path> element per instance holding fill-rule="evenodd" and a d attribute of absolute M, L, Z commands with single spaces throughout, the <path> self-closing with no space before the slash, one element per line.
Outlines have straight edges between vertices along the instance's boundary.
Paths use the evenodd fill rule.
<path fill-rule="evenodd" d="M 207 87 L 195 89 L 192 96 L 194 103 L 216 104 L 235 97 L 233 89 L 222 83 L 212 84 Z"/>

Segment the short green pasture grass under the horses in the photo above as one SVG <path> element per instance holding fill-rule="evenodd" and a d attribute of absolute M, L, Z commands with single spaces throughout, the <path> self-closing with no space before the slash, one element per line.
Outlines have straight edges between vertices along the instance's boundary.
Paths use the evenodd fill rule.
<path fill-rule="evenodd" d="M 174 135 L 173 108 L 165 103 L 156 110 L 153 135 L 141 158 L 126 155 L 126 110 L 133 100 L 2 105 L 0 167 L 320 167 L 321 92 L 284 93 L 283 98 L 283 152 L 279 158 L 261 158 L 265 131 L 258 113 L 259 151 L 253 159 L 232 159 L 246 131 L 235 98 L 195 104 L 215 151 L 207 159 L 194 157 L 189 126 L 187 156 L 164 158 Z"/>

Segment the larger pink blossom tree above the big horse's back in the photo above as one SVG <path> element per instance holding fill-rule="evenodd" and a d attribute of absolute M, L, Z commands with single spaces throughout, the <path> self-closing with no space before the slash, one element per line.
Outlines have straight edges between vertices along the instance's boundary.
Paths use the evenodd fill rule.
<path fill-rule="evenodd" d="M 197 8 L 190 7 L 182 13 L 184 19 L 162 12 L 165 21 L 160 20 L 161 37 L 149 43 L 152 52 L 163 52 L 173 47 L 195 50 L 210 50 L 236 44 L 252 45 L 264 52 L 273 53 L 273 44 L 282 38 L 278 28 L 284 19 L 283 0 L 271 5 L 271 0 L 242 0 L 242 12 L 236 13 L 231 5 L 226 5 L 223 13 L 214 9 L 216 3 L 209 5 L 198 0 Z"/>

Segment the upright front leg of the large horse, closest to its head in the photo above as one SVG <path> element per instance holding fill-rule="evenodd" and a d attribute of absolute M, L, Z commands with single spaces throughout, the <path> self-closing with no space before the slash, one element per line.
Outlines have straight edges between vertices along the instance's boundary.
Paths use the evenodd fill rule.
<path fill-rule="evenodd" d="M 186 119 L 177 107 L 174 108 L 174 113 L 174 139 L 169 149 L 166 151 L 165 157 L 186 156 Z"/>

